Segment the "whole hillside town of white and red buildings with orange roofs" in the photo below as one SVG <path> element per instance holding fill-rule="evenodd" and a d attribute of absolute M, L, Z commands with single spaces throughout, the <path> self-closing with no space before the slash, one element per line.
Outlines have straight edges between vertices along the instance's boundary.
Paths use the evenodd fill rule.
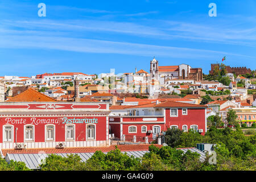
<path fill-rule="evenodd" d="M 150 72 L 145 67 L 122 74 L 112 69 L 98 75 L 0 77 L 2 157 L 8 161 L 20 151 L 34 154 L 47 148 L 51 153 L 72 148 L 85 152 L 88 147 L 91 152 L 97 147 L 110 151 L 104 147 L 115 144 L 133 152 L 147 151 L 152 143 L 166 145 L 168 129 L 205 135 L 213 125 L 255 127 L 255 71 L 222 63 L 212 64 L 205 75 L 201 68 L 187 64 L 159 63 L 154 57 L 148 63 Z M 228 118 L 232 112 L 237 119 Z M 189 150 L 205 158 L 199 147 Z"/>

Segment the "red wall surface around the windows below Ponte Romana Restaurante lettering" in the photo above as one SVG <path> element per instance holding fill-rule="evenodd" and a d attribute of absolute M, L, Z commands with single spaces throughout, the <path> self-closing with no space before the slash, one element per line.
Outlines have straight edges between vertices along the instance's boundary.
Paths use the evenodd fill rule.
<path fill-rule="evenodd" d="M 7 123 L 7 118 L 13 119 L 19 119 L 19 123 L 14 122 L 9 124 Z M 3 117 L 0 118 L 0 142 L 3 142 L 3 125 L 13 125 L 14 126 L 14 142 L 15 142 L 15 128 L 17 127 L 17 141 L 16 142 L 24 142 L 24 125 L 32 124 L 34 125 L 34 132 L 35 132 L 35 138 L 34 142 L 45 142 L 44 135 L 45 135 L 45 125 L 48 125 L 49 123 L 31 123 L 31 118 L 37 119 L 58 119 L 57 123 L 52 123 L 55 125 L 55 142 L 63 142 L 65 141 L 65 125 L 66 123 L 63 123 L 62 118 L 64 117 Z M 96 124 L 96 140 L 106 140 L 106 117 L 67 117 L 68 119 L 98 119 Z M 20 123 L 21 119 L 26 119 L 26 123 Z M 85 141 L 86 140 L 86 125 L 89 125 L 90 123 L 74 123 L 75 124 L 75 137 L 76 141 Z"/>

